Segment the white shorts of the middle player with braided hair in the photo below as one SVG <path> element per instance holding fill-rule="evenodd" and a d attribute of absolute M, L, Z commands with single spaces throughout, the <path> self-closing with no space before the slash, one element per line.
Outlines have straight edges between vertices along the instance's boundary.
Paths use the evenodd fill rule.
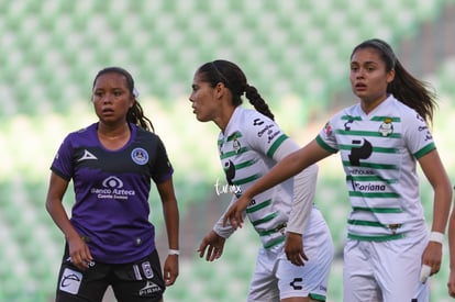
<path fill-rule="evenodd" d="M 275 302 L 293 297 L 325 301 L 333 259 L 332 237 L 325 222 L 311 223 L 311 232 L 303 236 L 303 250 L 308 257 L 303 267 L 292 265 L 284 248 L 285 244 L 259 249 L 247 301 Z"/>

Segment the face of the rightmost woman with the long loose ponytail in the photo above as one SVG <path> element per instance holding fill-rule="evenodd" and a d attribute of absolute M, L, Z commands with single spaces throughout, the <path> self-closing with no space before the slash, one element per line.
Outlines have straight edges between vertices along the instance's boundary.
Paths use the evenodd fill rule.
<path fill-rule="evenodd" d="M 379 51 L 373 47 L 359 48 L 351 58 L 351 87 L 366 104 L 375 105 L 387 99 L 387 86 L 393 76 L 395 70 L 386 70 Z"/>

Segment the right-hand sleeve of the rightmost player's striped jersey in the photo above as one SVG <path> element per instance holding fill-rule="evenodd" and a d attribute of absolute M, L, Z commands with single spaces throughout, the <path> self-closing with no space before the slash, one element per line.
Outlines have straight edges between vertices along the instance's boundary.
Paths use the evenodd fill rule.
<path fill-rule="evenodd" d="M 435 149 L 433 136 L 425 120 L 418 113 L 407 115 L 403 121 L 404 142 L 410 153 L 419 159 Z"/>

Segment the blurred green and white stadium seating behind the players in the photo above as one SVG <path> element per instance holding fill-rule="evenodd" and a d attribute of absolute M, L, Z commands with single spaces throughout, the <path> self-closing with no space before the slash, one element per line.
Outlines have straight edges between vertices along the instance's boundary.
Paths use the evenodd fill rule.
<path fill-rule="evenodd" d="M 54 301 L 64 238 L 44 210 L 48 167 L 64 136 L 96 120 L 91 82 L 106 66 L 130 70 L 141 102 L 176 169 L 181 215 L 180 276 L 166 301 L 244 301 L 258 238 L 247 225 L 208 264 L 196 249 L 226 206 L 217 128 L 191 113 L 193 71 L 236 61 L 300 144 L 334 111 L 356 100 L 348 58 L 380 37 L 440 98 L 433 133 L 454 178 L 455 0 L 0 0 L 0 301 Z M 336 156 L 320 165 L 317 205 L 336 246 L 328 301 L 342 301 L 342 246 L 348 201 Z M 431 190 L 422 181 L 425 214 Z M 162 208 L 152 220 L 167 251 Z M 65 205 L 73 204 L 68 191 Z M 432 278 L 431 301 L 446 294 L 448 254 Z M 104 302 L 114 301 L 110 292 Z"/>

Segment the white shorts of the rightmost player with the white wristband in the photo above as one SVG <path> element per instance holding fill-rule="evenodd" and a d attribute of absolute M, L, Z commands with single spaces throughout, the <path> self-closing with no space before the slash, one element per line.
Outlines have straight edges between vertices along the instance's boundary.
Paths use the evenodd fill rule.
<path fill-rule="evenodd" d="M 412 233 L 388 242 L 347 239 L 344 247 L 344 301 L 428 302 L 430 281 L 423 284 L 419 280 L 428 238 L 424 232 Z"/>

